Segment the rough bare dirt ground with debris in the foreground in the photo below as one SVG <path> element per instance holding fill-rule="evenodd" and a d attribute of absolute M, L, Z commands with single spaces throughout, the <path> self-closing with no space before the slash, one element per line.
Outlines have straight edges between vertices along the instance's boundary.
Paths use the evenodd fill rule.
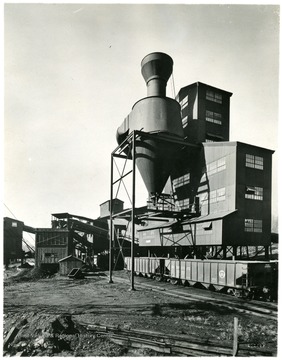
<path fill-rule="evenodd" d="M 123 282 L 115 281 L 115 276 Z M 4 339 L 16 327 L 4 356 L 157 356 L 146 348 L 134 353 L 86 330 L 86 324 L 187 334 L 217 341 L 233 339 L 234 316 L 239 341 L 275 353 L 277 322 L 236 313 L 197 300 L 167 296 L 150 287 L 130 291 L 124 271 L 109 283 L 106 274 L 85 279 L 42 277 L 36 269 L 12 268 L 4 274 Z M 153 281 L 153 280 L 152 280 Z M 10 333 L 9 333 L 10 332 Z"/>

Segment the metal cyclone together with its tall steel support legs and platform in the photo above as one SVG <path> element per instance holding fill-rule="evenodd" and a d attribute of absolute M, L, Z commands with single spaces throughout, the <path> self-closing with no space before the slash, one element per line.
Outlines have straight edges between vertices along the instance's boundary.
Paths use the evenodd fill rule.
<path fill-rule="evenodd" d="M 134 273 L 135 224 L 144 223 L 148 219 L 165 221 L 170 218 L 187 219 L 197 215 L 194 207 L 179 211 L 171 194 L 163 193 L 163 189 L 171 175 L 176 154 L 183 148 L 199 150 L 198 145 L 189 144 L 184 140 L 179 103 L 166 97 L 166 85 L 172 74 L 173 60 L 164 53 L 152 53 L 141 62 L 141 73 L 147 85 L 147 97 L 135 103 L 130 114 L 117 130 L 119 146 L 111 154 L 111 203 L 118 196 L 120 184 L 126 176 L 131 175 L 131 258 Z M 115 158 L 132 162 L 132 168 L 124 173 L 118 170 L 118 178 L 114 179 Z M 115 163 L 116 164 L 116 163 Z M 147 207 L 143 211 L 135 208 L 136 168 L 138 168 L 148 191 Z M 114 186 L 118 189 L 114 194 Z M 123 183 L 124 184 L 124 183 Z M 128 212 L 126 214 L 128 216 Z M 113 214 L 110 218 L 110 282 L 112 282 L 112 243 L 114 237 L 113 220 L 125 214 Z M 132 290 L 134 289 L 133 276 Z"/>

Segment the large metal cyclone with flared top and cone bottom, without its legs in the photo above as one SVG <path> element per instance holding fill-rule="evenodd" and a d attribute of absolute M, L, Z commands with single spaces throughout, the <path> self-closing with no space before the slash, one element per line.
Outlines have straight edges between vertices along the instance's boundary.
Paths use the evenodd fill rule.
<path fill-rule="evenodd" d="M 120 144 L 133 130 L 150 134 L 165 134 L 183 138 L 180 105 L 166 97 L 166 84 L 172 73 L 173 60 L 164 53 L 145 56 L 141 62 L 141 73 L 147 85 L 147 97 L 134 104 L 131 113 L 117 130 Z M 175 144 L 154 139 L 138 140 L 136 164 L 149 195 L 161 194 L 174 163 L 178 150 Z"/>

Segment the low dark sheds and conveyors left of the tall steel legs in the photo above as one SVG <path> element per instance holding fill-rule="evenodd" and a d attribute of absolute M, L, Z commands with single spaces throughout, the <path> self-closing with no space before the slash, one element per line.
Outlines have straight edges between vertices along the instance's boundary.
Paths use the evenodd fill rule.
<path fill-rule="evenodd" d="M 69 266 L 77 263 L 82 266 L 97 265 L 98 255 L 103 254 L 103 266 L 108 266 L 109 248 L 109 218 L 110 201 L 100 205 L 100 216 L 90 219 L 67 212 L 51 215 L 51 227 L 33 228 L 24 224 L 23 221 L 12 218 L 4 218 L 4 264 L 11 261 L 23 260 L 23 231 L 35 234 L 35 249 L 32 249 L 35 257 L 35 266 L 48 271 L 67 271 Z M 112 211 L 121 212 L 123 201 L 114 199 Z M 116 230 L 120 233 L 126 228 L 124 222 L 116 224 Z M 117 236 L 115 237 L 117 239 Z M 116 240 L 117 241 L 117 240 Z M 116 244 L 119 248 L 119 244 Z M 106 260 L 105 260 L 106 259 Z"/>

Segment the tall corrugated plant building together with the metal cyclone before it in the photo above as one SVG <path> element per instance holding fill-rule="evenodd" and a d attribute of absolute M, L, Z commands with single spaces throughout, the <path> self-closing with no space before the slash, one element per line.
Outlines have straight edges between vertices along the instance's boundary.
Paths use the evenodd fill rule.
<path fill-rule="evenodd" d="M 136 164 L 148 190 L 143 214 L 131 216 L 141 224 L 137 251 L 236 259 L 255 247 L 268 258 L 273 151 L 229 141 L 231 92 L 196 82 L 166 97 L 172 64 L 163 53 L 142 60 L 147 97 L 117 129 L 112 153 L 133 172 Z"/>

